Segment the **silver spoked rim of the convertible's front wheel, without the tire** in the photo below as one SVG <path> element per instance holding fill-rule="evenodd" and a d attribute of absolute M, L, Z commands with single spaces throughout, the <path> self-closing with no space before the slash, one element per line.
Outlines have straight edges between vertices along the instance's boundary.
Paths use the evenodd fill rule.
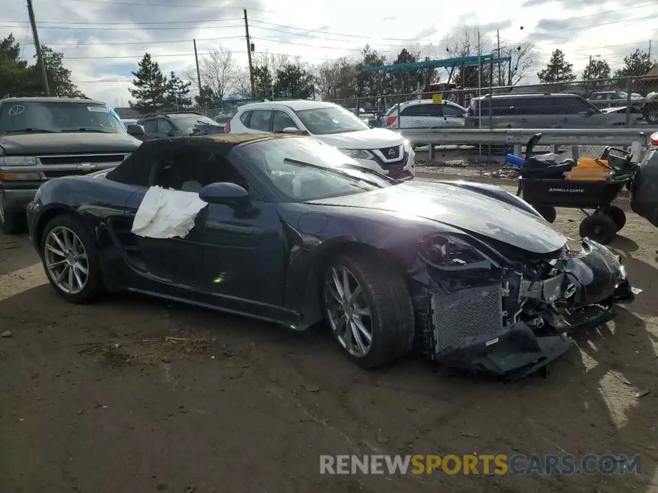
<path fill-rule="evenodd" d="M 324 302 L 338 342 L 355 358 L 366 356 L 372 347 L 370 307 L 359 281 L 345 266 L 328 271 Z"/>

